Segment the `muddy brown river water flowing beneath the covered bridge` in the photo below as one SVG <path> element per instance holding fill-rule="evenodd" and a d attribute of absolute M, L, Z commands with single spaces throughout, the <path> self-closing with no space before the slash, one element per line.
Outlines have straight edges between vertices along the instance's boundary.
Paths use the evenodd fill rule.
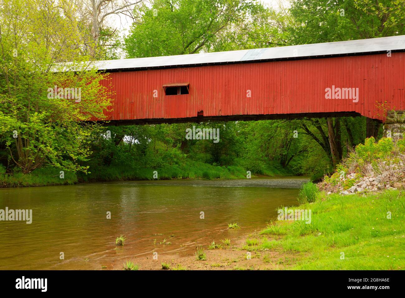
<path fill-rule="evenodd" d="M 32 209 L 31 224 L 0 221 L 0 269 L 91 270 L 145 255 L 152 258 L 155 251 L 194 254 L 196 245 L 264 228 L 277 218 L 278 206 L 297 204 L 298 188 L 307 180 L 159 180 L 0 189 L 0 210 Z M 228 229 L 228 223 L 241 228 Z M 119 235 L 126 241 L 116 249 Z"/>

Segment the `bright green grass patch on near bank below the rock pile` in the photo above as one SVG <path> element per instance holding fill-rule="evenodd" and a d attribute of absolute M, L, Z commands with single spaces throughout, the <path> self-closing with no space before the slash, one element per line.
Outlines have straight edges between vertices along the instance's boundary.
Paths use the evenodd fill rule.
<path fill-rule="evenodd" d="M 298 207 L 311 209 L 310 224 L 293 221 L 269 226 L 262 236 L 283 236 L 279 240 L 271 236 L 263 239 L 260 249 L 293 254 L 289 269 L 405 269 L 405 192 L 333 194 L 323 201 L 320 197 Z M 392 214 L 391 219 L 388 214 Z M 342 252 L 344 259 L 340 258 Z"/>

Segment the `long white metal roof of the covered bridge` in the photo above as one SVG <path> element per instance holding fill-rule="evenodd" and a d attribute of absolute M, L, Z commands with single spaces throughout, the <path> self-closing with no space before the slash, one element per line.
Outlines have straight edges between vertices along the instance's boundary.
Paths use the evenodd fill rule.
<path fill-rule="evenodd" d="M 269 47 L 239 51 L 224 51 L 202 54 L 161 56 L 96 61 L 98 70 L 130 70 L 149 68 L 168 68 L 194 66 L 200 64 L 227 64 L 258 60 L 286 60 L 299 57 L 323 57 L 354 55 L 382 51 L 405 50 L 405 35 L 337 41 L 332 43 L 313 43 L 286 47 Z"/>

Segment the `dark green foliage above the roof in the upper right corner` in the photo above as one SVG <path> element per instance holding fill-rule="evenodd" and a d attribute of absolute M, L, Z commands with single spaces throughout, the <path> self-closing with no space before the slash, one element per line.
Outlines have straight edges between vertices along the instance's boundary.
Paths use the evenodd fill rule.
<path fill-rule="evenodd" d="M 287 30 L 294 44 L 402 35 L 404 10 L 401 0 L 295 0 Z"/>

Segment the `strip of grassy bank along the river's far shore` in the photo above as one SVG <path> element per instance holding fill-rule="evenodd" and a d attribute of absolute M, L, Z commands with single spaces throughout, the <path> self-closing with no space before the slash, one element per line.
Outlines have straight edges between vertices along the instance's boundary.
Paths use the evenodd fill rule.
<path fill-rule="evenodd" d="M 188 161 L 183 165 L 171 165 L 156 169 L 145 167 L 128 167 L 111 165 L 90 169 L 89 174 L 65 172 L 60 178 L 60 169 L 43 167 L 30 174 L 15 172 L 12 175 L 0 174 L 0 187 L 29 187 L 45 185 L 75 184 L 77 182 L 119 181 L 119 180 L 153 180 L 156 171 L 158 179 L 238 179 L 246 178 L 247 166 L 244 161 L 237 165 L 216 166 L 200 161 Z M 256 173 L 252 172 L 252 177 Z M 260 176 L 292 175 L 280 165 L 268 165 L 261 170 Z"/>

